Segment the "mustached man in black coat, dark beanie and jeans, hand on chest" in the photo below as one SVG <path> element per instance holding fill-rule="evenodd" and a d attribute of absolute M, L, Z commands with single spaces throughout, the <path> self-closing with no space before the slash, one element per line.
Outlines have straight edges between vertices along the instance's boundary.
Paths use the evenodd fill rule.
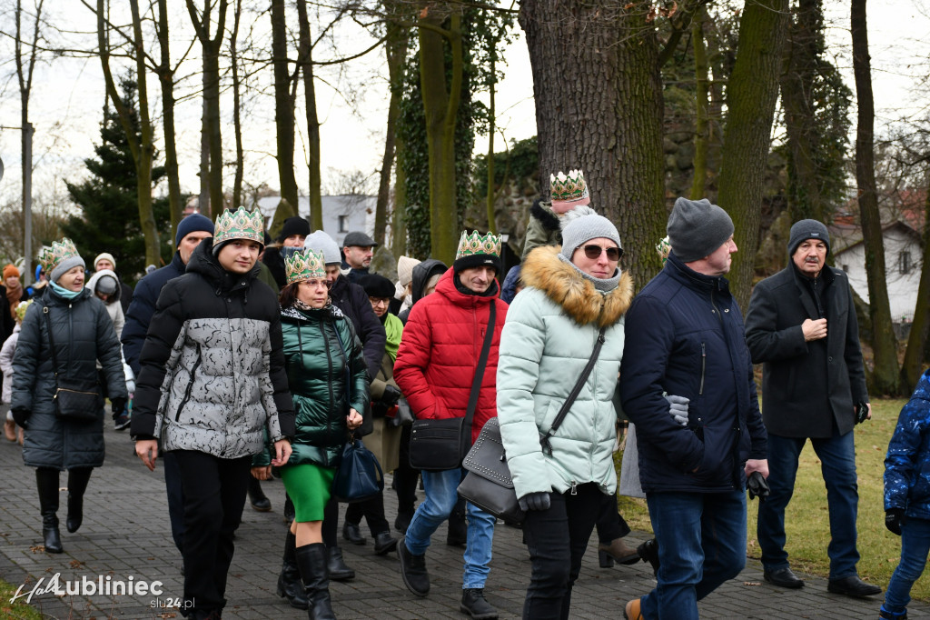
<path fill-rule="evenodd" d="M 674 246 L 672 246 L 674 248 Z M 785 507 L 807 438 L 820 458 L 830 506 L 830 582 L 836 594 L 861 597 L 882 588 L 859 579 L 858 489 L 853 425 L 871 417 L 856 308 L 843 271 L 826 266 L 830 234 L 816 220 L 791 226 L 790 262 L 752 291 L 746 343 L 763 364 L 763 419 L 768 430 L 768 484 L 759 505 L 764 577 L 801 587 L 785 552 Z M 859 412 L 861 411 L 861 417 Z"/>

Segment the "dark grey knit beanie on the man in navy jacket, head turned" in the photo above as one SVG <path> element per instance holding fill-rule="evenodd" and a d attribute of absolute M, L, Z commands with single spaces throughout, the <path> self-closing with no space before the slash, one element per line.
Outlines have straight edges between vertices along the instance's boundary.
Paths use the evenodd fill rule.
<path fill-rule="evenodd" d="M 666 226 L 671 251 L 682 263 L 699 261 L 733 236 L 733 220 L 707 198 L 678 198 Z"/>

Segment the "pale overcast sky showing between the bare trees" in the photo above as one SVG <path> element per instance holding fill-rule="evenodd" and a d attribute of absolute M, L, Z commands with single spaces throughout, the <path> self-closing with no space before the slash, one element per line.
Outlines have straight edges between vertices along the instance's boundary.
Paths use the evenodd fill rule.
<path fill-rule="evenodd" d="M 178 7 L 173 14 L 172 57 L 178 59 L 190 41 L 189 18 L 180 0 L 170 0 Z M 8 8 L 8 0 L 0 7 Z M 28 0 L 24 4 L 31 4 Z M 114 3 L 115 5 L 116 3 Z M 855 88 L 849 60 L 848 2 L 827 0 L 830 28 L 830 50 L 837 54 L 837 62 L 844 70 L 849 88 Z M 870 3 L 870 52 L 876 107 L 879 119 L 877 128 L 899 115 L 925 106 L 925 96 L 915 95 L 915 74 L 928 74 L 926 34 L 930 33 L 930 18 L 925 9 L 927 0 L 886 0 Z M 56 34 L 59 43 L 70 47 L 93 45 L 93 15 L 77 2 L 69 0 L 46 0 L 47 20 L 73 33 Z M 11 16 L 0 16 L 5 23 Z M 114 17 L 114 20 L 117 20 Z M 255 23 L 257 39 L 261 39 L 267 15 L 247 15 L 240 40 L 246 28 Z M 228 23 L 232 25 L 232 16 Z M 6 30 L 6 26 L 4 29 Z M 81 34 L 84 33 L 84 34 Z M 524 139 L 536 132 L 535 109 L 533 106 L 532 75 L 529 67 L 525 41 L 519 27 L 517 38 L 507 50 L 508 66 L 506 78 L 498 89 L 498 127 L 508 140 Z M 359 29 L 346 27 L 337 33 L 339 53 L 349 55 L 371 44 L 371 39 Z M 89 37 L 89 38 L 88 38 Z M 90 43 L 88 44 L 88 41 Z M 199 76 L 199 44 L 194 47 L 189 61 L 182 65 L 180 74 L 191 74 L 178 88 L 179 94 L 197 88 Z M 11 59 L 12 46 L 8 40 L 0 41 L 0 125 L 19 126 L 20 105 L 15 67 Z M 332 49 L 314 54 L 314 60 L 325 60 L 334 55 Z M 262 79 L 267 87 L 271 70 L 263 72 Z M 335 186 L 340 172 L 360 169 L 374 173 L 379 168 L 383 149 L 384 125 L 387 117 L 388 90 L 387 69 L 383 51 L 372 52 L 366 61 L 352 62 L 342 69 L 329 68 L 320 71 L 322 80 L 317 88 L 317 107 L 321 128 L 321 150 L 324 184 Z M 35 128 L 35 173 L 33 184 L 36 194 L 48 195 L 63 192 L 62 179 L 79 180 L 85 173 L 83 159 L 93 155 L 94 144 L 100 142 L 100 119 L 103 105 L 103 83 L 100 76 L 100 61 L 96 57 L 86 59 L 58 58 L 36 67 L 31 100 L 31 120 Z M 9 77 L 7 77 L 9 76 Z M 153 76 L 149 77 L 149 97 L 156 115 L 160 115 L 159 88 Z M 348 93 L 345 97 L 337 88 Z M 925 88 L 923 88 L 925 92 Z M 923 98 L 922 98 L 923 97 Z M 346 99 L 354 100 L 354 108 Z M 222 100 L 224 119 L 223 142 L 228 160 L 234 159 L 232 95 Z M 354 110 L 354 111 L 353 111 Z M 196 193 L 199 168 L 200 144 L 199 97 L 179 101 L 177 108 L 177 130 L 182 190 Z M 246 182 L 267 182 L 278 186 L 277 169 L 272 153 L 274 147 L 273 100 L 271 91 L 254 95 L 246 101 L 244 123 L 246 147 Z M 160 123 L 160 117 L 157 118 Z M 296 174 L 301 192 L 307 187 L 307 168 L 302 155 L 302 136 L 305 135 L 306 120 L 302 108 L 297 112 Z M 157 128 L 161 141 L 161 128 Z M 499 134 L 498 134 L 499 136 Z M 476 151 L 484 153 L 485 138 L 476 142 Z M 499 150 L 499 138 L 496 139 Z M 159 145 L 160 146 L 160 145 Z M 20 132 L 0 129 L 0 157 L 6 166 L 6 175 L 0 182 L 0 204 L 16 200 L 20 192 Z M 224 185 L 232 186 L 233 170 L 227 168 Z"/>

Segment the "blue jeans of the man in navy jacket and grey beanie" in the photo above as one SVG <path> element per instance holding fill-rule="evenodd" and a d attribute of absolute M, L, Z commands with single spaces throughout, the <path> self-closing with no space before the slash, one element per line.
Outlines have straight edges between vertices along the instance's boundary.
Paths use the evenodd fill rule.
<path fill-rule="evenodd" d="M 659 567 L 643 617 L 697 620 L 697 601 L 746 565 L 746 492 L 654 492 L 645 500 Z"/>

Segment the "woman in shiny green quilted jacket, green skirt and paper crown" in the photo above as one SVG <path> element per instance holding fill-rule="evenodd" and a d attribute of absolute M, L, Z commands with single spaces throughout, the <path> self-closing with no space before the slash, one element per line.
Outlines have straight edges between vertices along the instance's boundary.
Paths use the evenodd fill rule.
<path fill-rule="evenodd" d="M 293 251 L 285 257 L 285 268 L 281 323 L 297 432 L 294 452 L 280 472 L 297 516 L 285 540 L 278 596 L 299 609 L 309 608 L 311 619 L 333 618 L 323 509 L 346 433 L 362 424 L 368 376 L 352 321 L 329 301 L 323 255 Z M 256 478 L 271 476 L 267 458 L 259 455 L 254 462 Z"/>

